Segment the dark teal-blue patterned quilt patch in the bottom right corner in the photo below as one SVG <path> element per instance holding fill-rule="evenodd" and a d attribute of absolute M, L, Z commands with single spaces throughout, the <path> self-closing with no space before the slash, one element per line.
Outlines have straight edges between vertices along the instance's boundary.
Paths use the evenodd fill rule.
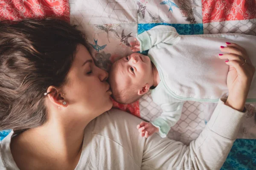
<path fill-rule="evenodd" d="M 256 139 L 236 139 L 221 170 L 255 170 Z"/>

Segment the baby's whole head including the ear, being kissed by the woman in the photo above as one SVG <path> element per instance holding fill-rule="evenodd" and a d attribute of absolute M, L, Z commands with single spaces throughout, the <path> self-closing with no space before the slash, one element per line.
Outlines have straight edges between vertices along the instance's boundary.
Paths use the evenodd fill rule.
<path fill-rule="evenodd" d="M 129 104 L 146 94 L 153 85 L 153 72 L 148 56 L 133 53 L 113 63 L 109 73 L 112 97 L 116 102 Z"/>

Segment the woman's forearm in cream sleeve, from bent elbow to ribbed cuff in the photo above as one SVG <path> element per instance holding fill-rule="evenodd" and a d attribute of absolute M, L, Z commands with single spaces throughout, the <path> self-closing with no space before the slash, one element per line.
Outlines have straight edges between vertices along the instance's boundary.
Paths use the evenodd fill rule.
<path fill-rule="evenodd" d="M 219 101 L 207 127 L 189 145 L 190 156 L 196 157 L 194 160 L 191 158 L 194 164 L 210 170 L 219 170 L 223 165 L 245 114 L 224 105 L 224 102 L 225 99 Z"/>

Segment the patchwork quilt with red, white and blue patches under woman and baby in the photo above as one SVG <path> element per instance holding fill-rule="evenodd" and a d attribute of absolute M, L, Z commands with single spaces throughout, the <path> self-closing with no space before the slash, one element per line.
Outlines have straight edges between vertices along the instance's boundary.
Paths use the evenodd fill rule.
<path fill-rule="evenodd" d="M 96 65 L 108 71 L 119 57 L 129 55 L 132 40 L 157 25 L 169 25 L 179 34 L 241 33 L 256 35 L 255 0 L 0 0 L 0 20 L 60 17 L 84 31 Z M 161 109 L 146 94 L 131 105 L 113 101 L 116 108 L 147 121 Z M 214 103 L 185 102 L 180 121 L 169 137 L 185 144 L 196 139 L 205 127 Z M 223 165 L 223 170 L 252 170 L 256 167 L 256 105 L 240 128 L 239 139 Z M 0 140 L 9 130 L 0 132 Z"/>

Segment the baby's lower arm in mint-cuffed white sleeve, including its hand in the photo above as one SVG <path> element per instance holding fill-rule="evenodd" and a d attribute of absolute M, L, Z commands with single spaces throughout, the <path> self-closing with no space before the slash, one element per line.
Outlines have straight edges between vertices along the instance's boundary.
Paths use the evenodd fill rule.
<path fill-rule="evenodd" d="M 148 138 L 159 132 L 162 138 L 166 137 L 171 127 L 180 119 L 184 102 L 166 103 L 161 105 L 163 113 L 152 122 L 141 122 L 137 125 L 140 136 Z"/>

